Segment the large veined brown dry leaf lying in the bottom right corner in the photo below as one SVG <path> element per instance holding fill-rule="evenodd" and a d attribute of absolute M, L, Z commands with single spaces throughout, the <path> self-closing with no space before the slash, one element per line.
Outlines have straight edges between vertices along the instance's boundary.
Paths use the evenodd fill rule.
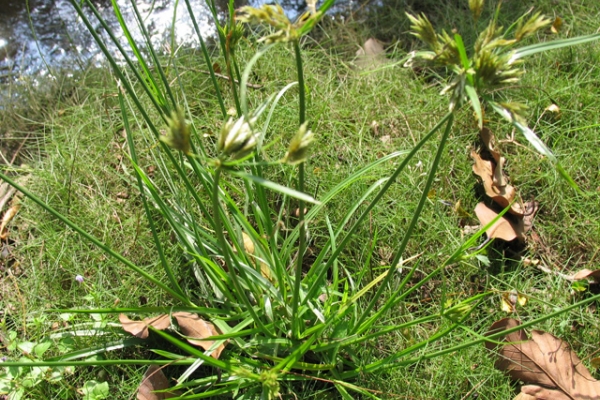
<path fill-rule="evenodd" d="M 519 325 L 515 319 L 504 318 L 490 327 L 488 335 Z M 536 400 L 600 398 L 600 382 L 566 342 L 538 330 L 531 332 L 530 339 L 522 329 L 509 333 L 504 341 L 507 344 L 503 346 L 487 342 L 486 347 L 498 354 L 496 368 L 527 383 L 521 388 L 522 393 Z"/>

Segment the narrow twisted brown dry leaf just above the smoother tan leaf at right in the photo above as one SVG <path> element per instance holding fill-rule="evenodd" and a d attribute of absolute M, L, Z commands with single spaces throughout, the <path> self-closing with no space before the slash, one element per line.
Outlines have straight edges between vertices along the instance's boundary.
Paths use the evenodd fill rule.
<path fill-rule="evenodd" d="M 502 208 L 508 207 L 509 204 L 517 197 L 515 188 L 511 185 L 498 186 L 498 178 L 496 176 L 495 167 L 492 161 L 484 160 L 475 150 L 471 151 L 471 158 L 474 161 L 473 172 L 479 176 L 483 182 L 485 194 L 494 200 Z M 501 167 L 502 163 L 498 166 Z M 504 178 L 503 178 L 504 179 Z M 496 180 L 496 183 L 494 182 Z M 523 216 L 523 208 L 519 201 L 512 203 L 509 212 L 516 216 Z"/>

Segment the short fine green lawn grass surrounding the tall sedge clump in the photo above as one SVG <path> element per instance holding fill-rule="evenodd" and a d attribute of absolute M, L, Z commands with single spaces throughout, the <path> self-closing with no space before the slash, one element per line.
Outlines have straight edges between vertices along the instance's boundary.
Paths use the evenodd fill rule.
<path fill-rule="evenodd" d="M 550 10 L 544 9 L 544 2 L 540 3 L 548 14 L 556 12 L 563 16 L 564 29 L 569 34 L 590 33 L 597 26 L 600 8 L 590 9 L 589 5 L 578 4 L 568 7 L 571 2 L 565 1 Z M 443 8 L 434 21 L 447 28 L 458 26 L 462 29 L 468 24 L 467 15 L 466 11 L 450 12 L 450 8 Z M 373 17 L 366 28 L 364 24 L 352 21 L 346 24 L 327 22 L 323 31 L 315 33 L 314 39 L 309 38 L 305 43 L 308 119 L 315 122 L 313 131 L 317 136 L 317 145 L 307 165 L 306 188 L 308 193 L 317 193 L 317 197 L 367 162 L 393 150 L 411 148 L 446 111 L 447 99 L 439 96 L 441 87 L 435 75 L 415 74 L 399 66 L 375 71 L 351 67 L 355 45 L 366 39 L 367 33 L 377 35 L 381 31 L 380 37 L 384 40 L 405 40 L 395 47 L 398 58 L 417 47 L 402 28 L 407 27 L 406 20 L 395 20 L 395 25 L 386 22 L 382 27 L 379 21 L 384 17 L 403 16 L 399 12 L 395 15 L 382 13 Z M 390 32 L 390 27 L 396 29 Z M 252 40 L 244 42 L 241 56 L 250 57 L 253 45 Z M 264 85 L 264 89 L 254 93 L 257 102 L 261 96 L 296 80 L 290 62 L 292 56 L 293 49 L 279 47 L 259 61 L 255 83 Z M 516 142 L 506 142 L 502 146 L 509 159 L 507 172 L 511 183 L 523 199 L 535 198 L 541 205 L 535 220 L 535 235 L 530 235 L 525 254 L 565 273 L 582 268 L 596 269 L 600 257 L 600 227 L 597 224 L 600 219 L 597 201 L 600 157 L 595 153 L 600 141 L 597 136 L 600 106 L 596 101 L 600 79 L 596 60 L 599 56 L 600 46 L 596 43 L 536 56 L 528 60 L 527 74 L 515 88 L 515 97 L 530 107 L 531 125 L 535 123 L 541 137 L 590 196 L 577 195 L 545 160 L 522 146 L 526 142 L 518 135 Z M 184 86 L 190 88 L 186 93 L 202 93 L 190 96 L 188 100 L 194 123 L 200 132 L 204 132 L 206 138 L 203 140 L 210 143 L 218 133 L 221 117 L 216 100 L 204 95 L 210 82 L 208 75 L 198 72 L 200 57 L 194 52 L 182 53 L 177 63 Z M 114 249 L 160 276 L 161 269 L 124 151 L 126 139 L 115 98 L 117 89 L 110 73 L 104 70 L 87 71 L 78 79 L 81 82 L 78 85 L 69 84 L 66 79 L 62 81 L 64 85 L 57 84 L 53 94 L 62 95 L 32 90 L 28 93 L 27 98 L 31 100 L 28 104 L 2 113 L 3 120 L 20 121 L 21 125 L 15 125 L 11 130 L 13 137 L 29 135 L 28 144 L 21 153 L 32 170 L 27 186 Z M 68 90 L 65 85 L 70 86 Z M 67 92 L 68 95 L 64 95 Z M 283 111 L 275 115 L 272 133 L 289 132 L 291 136 L 295 128 L 289 121 L 294 120 L 297 112 L 295 93 L 287 95 L 282 102 Z M 231 99 L 227 100 L 232 104 Z M 560 107 L 559 118 L 544 113 L 552 102 Z M 498 139 L 505 139 L 512 133 L 505 124 L 492 122 L 490 128 Z M 440 202 L 445 200 L 455 204 L 460 201 L 472 214 L 480 200 L 467 150 L 476 144 L 476 132 L 476 122 L 470 112 L 457 118 L 434 182 L 435 193 L 432 193 L 407 248 L 406 256 L 416 257 L 412 262 L 419 263 L 418 273 L 422 276 L 435 269 L 464 241 L 464 225 L 476 223 L 474 218 L 457 215 L 452 207 Z M 419 189 L 424 185 L 423 175 L 435 153 L 434 145 L 425 146 L 418 156 L 422 166 L 411 165 L 373 210 L 369 223 L 361 227 L 355 243 L 340 259 L 340 268 L 347 269 L 353 276 L 368 268 L 367 274 L 374 276 L 389 264 L 393 248 L 402 239 L 417 203 Z M 147 143 L 147 151 L 140 153 L 142 166 L 147 171 L 152 164 L 152 146 Z M 207 147 L 212 148 L 210 144 Z M 281 146 L 274 146 L 269 154 L 273 159 L 283 155 L 278 153 L 279 148 Z M 377 175 L 353 185 L 328 206 L 327 216 L 332 221 L 339 221 L 357 197 L 391 169 L 392 165 L 384 165 Z M 273 168 L 271 173 L 280 182 L 295 179 L 292 169 L 285 166 Z M 290 208 L 286 215 L 289 217 L 293 212 Z M 289 217 L 286 223 L 291 226 L 293 218 Z M 309 248 L 318 251 L 328 238 L 326 221 L 316 220 L 309 226 L 309 231 Z M 167 231 L 163 230 L 161 234 L 167 256 L 178 265 L 177 276 L 182 277 L 184 284 L 189 284 L 191 279 L 186 276 L 191 273 L 185 257 Z M 375 236 L 377 243 L 372 251 L 368 251 Z M 109 308 L 115 304 L 121 307 L 164 306 L 170 301 L 29 202 L 24 202 L 12 224 L 10 240 L 13 260 L 10 263 L 4 261 L 5 279 L 1 285 L 1 302 L 5 310 L 3 337 L 9 330 L 15 330 L 22 339 L 36 342 L 59 331 L 60 325 L 53 325 L 59 320 L 58 316 L 44 312 L 50 308 Z M 590 295 L 589 291 L 573 291 L 570 283 L 558 276 L 525 265 L 506 246 L 494 244 L 487 255 L 491 266 L 475 259 L 452 265 L 443 275 L 401 303 L 387 318 L 400 323 L 439 311 L 444 298 L 457 302 L 483 290 L 497 291 L 498 295 L 488 298 L 468 320 L 469 328 L 480 332 L 506 316 L 500 309 L 502 292 L 518 290 L 529 296 L 528 304 L 518 310 L 518 318 L 522 320 L 547 314 Z M 77 274 L 85 277 L 84 285 L 75 282 Z M 401 278 L 399 275 L 397 279 Z M 589 366 L 588 357 L 593 357 L 600 340 L 595 307 L 591 305 L 573 311 L 536 328 L 568 341 Z M 89 317 L 77 318 L 68 323 L 90 321 Z M 116 322 L 114 316 L 97 318 Z M 430 337 L 438 328 L 422 325 L 418 329 L 390 334 L 360 346 L 354 354 L 347 356 L 367 364 L 405 348 L 415 340 Z M 435 346 L 457 344 L 469 338 L 473 339 L 471 333 L 456 331 Z M 142 349 L 127 351 L 143 352 Z M 109 382 L 111 398 L 128 398 L 135 393 L 144 370 L 134 366 L 82 367 L 58 384 L 36 387 L 30 397 L 73 398 L 84 382 L 94 379 Z M 387 372 L 367 374 L 355 384 L 381 391 L 383 398 L 463 399 L 477 394 L 479 399 L 498 399 L 511 398 L 515 394 L 514 386 L 494 369 L 493 360 L 482 346 L 412 365 L 399 365 Z M 302 387 L 289 387 L 283 393 L 284 398 L 294 398 L 294 393 L 298 398 L 336 398 L 331 386 L 314 381 Z"/>

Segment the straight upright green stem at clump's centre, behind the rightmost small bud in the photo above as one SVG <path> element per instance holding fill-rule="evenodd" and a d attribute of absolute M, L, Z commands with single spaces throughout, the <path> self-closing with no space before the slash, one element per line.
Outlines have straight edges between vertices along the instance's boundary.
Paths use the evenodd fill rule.
<path fill-rule="evenodd" d="M 304 87 L 304 74 L 302 71 L 302 53 L 300 52 L 299 40 L 294 41 L 294 53 L 296 56 L 296 70 L 298 72 L 298 102 L 300 115 L 298 117 L 298 126 L 301 126 L 306 120 L 306 93 Z M 304 192 L 304 163 L 298 166 L 298 185 L 296 189 Z M 294 292 L 292 294 L 292 333 L 293 337 L 300 336 L 300 318 L 298 317 L 298 305 L 300 303 L 300 284 L 302 281 L 302 264 L 304 261 L 304 251 L 306 248 L 306 227 L 304 225 L 304 201 L 298 200 L 298 224 L 300 227 L 300 237 L 298 243 L 298 256 L 296 262 L 296 274 L 294 277 Z"/>

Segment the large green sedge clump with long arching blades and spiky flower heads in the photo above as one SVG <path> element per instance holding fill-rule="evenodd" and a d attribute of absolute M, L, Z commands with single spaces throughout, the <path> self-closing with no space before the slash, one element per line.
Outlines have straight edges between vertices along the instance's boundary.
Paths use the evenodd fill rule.
<path fill-rule="evenodd" d="M 116 252 L 88 229 L 18 185 L 7 173 L 0 173 L 0 178 L 171 298 L 171 303 L 162 307 L 55 311 L 121 314 L 119 319 L 127 332 L 135 331 L 136 336 L 145 337 L 149 330 L 162 339 L 159 343 L 163 348 L 154 349 L 153 357 L 148 359 L 90 359 L 111 349 L 140 343 L 131 340 L 120 327 L 102 326 L 92 331 L 120 334 L 110 346 L 79 349 L 52 359 L 43 359 L 45 350 L 40 350 L 40 357 L 34 363 L 9 361 L 5 363 L 7 367 L 178 365 L 181 373 L 169 391 L 177 392 L 175 398 L 181 399 L 220 395 L 271 399 L 282 393 L 293 393 L 295 388 L 311 381 L 332 385 L 342 398 L 353 398 L 356 393 L 376 398 L 376 391 L 353 382 L 363 374 L 439 357 L 485 340 L 481 333 L 468 327 L 466 321 L 490 295 L 488 291 L 458 301 L 447 301 L 443 295 L 435 311 L 431 309 L 414 318 L 407 316 L 402 323 L 389 323 L 386 319 L 419 288 L 441 276 L 448 266 L 475 257 L 481 251 L 472 249 L 477 248 L 476 242 L 487 227 L 418 278 L 415 278 L 420 266 L 418 260 L 410 266 L 403 260 L 436 174 L 443 168 L 441 160 L 456 114 L 470 107 L 481 128 L 484 115 L 496 113 L 520 131 L 575 186 L 559 160 L 528 127 L 525 107 L 512 102 L 506 92 L 523 74 L 520 62 L 524 57 L 597 40 L 599 35 L 518 47 L 550 21 L 539 14 L 524 15 L 503 30 L 494 17 L 468 51 L 460 34 L 437 33 L 424 15 L 408 15 L 413 34 L 429 49 L 412 53 L 407 63 L 426 64 L 450 72 L 443 90 L 450 95 L 448 111 L 439 116 L 435 126 L 413 148 L 386 154 L 361 166 L 317 196 L 309 194 L 306 185 L 305 168 L 319 132 L 313 132 L 316 121 L 311 119 L 311 110 L 307 107 L 302 38 L 333 5 L 333 0 L 325 1 L 319 9 L 316 2 L 309 2 L 309 11 L 294 22 L 279 6 L 243 7 L 236 11 L 231 1 L 222 24 L 215 4 L 209 2 L 217 28 L 219 56 L 211 54 L 186 1 L 212 83 L 211 88 L 194 93 L 183 89 L 176 62 L 170 59 L 169 64 L 165 64 L 165 58 L 152 47 L 135 2 L 131 6 L 137 16 L 142 44 L 134 40 L 117 1 L 112 2 L 126 47 L 90 2 L 73 0 L 72 4 L 115 75 L 122 127 L 127 137 L 128 173 L 137 184 L 140 207 L 154 242 L 155 261 L 162 267 L 163 276 L 148 272 Z M 474 17 L 478 18 L 483 2 L 470 1 L 469 4 Z M 103 26 L 106 37 L 97 33 L 93 21 Z M 245 40 L 243 23 L 258 26 L 253 34 L 260 37 L 259 47 L 247 60 L 240 54 Z M 112 46 L 117 48 L 118 54 L 109 51 Z M 296 82 L 267 95 L 250 92 L 253 68 L 277 46 L 291 49 L 293 60 L 289 63 L 295 70 Z M 214 68 L 217 58 L 224 66 L 225 83 L 218 81 Z M 124 62 L 119 63 L 118 59 Z M 206 111 L 219 114 L 221 124 L 210 129 L 218 132 L 216 135 L 201 128 L 203 124 L 191 112 L 191 99 L 203 96 L 215 99 L 218 104 L 216 111 Z M 280 107 L 282 99 L 289 97 L 297 101 L 293 119 Z M 288 119 L 293 129 L 274 133 L 271 128 L 274 116 Z M 433 161 L 427 168 L 412 215 L 402 227 L 404 235 L 399 243 L 392 245 L 394 251 L 389 263 L 372 273 L 370 254 L 377 246 L 377 237 L 374 237 L 367 242 L 368 246 L 358 249 L 366 254 L 364 265 L 354 266 L 352 270 L 346 268 L 340 260 L 350 250 L 360 227 L 414 161 L 415 155 L 430 142 L 436 145 Z M 356 183 L 371 179 L 379 166 L 390 163 L 394 169 L 389 176 L 378 176 L 360 197 L 352 199 L 341 219 L 330 218 L 328 204 L 345 196 Z M 148 166 L 153 167 L 152 174 Z M 283 177 L 274 178 L 277 174 L 273 170 Z M 317 221 L 322 223 L 317 225 Z M 165 241 L 165 229 L 172 234 L 175 244 Z M 313 232 L 313 229 L 320 231 Z M 314 240 L 317 233 L 321 240 Z M 315 248 L 315 244 L 319 247 Z M 184 267 L 175 265 L 167 256 L 167 248 L 171 246 L 177 246 L 185 261 Z M 310 254 L 309 246 L 312 247 Z M 192 282 L 185 278 L 188 276 L 193 276 Z M 589 297 L 531 320 L 519 329 L 598 298 L 600 296 Z M 150 318 L 137 322 L 128 317 L 149 314 Z M 198 332 L 200 325 L 206 328 L 204 333 Z M 132 328 L 134 326 L 139 329 Z M 357 349 L 367 343 L 419 326 L 436 329 L 425 339 L 407 340 L 402 349 L 376 361 L 355 357 Z M 168 327 L 171 329 L 167 331 Z M 446 345 L 450 335 L 460 329 L 468 331 L 470 339 Z M 499 332 L 487 339 L 493 340 L 505 333 Z M 202 350 L 190 343 L 199 344 Z M 445 345 L 432 347 L 436 343 Z M 430 350 L 432 348 L 434 350 Z M 200 368 L 202 374 L 196 373 Z"/>

